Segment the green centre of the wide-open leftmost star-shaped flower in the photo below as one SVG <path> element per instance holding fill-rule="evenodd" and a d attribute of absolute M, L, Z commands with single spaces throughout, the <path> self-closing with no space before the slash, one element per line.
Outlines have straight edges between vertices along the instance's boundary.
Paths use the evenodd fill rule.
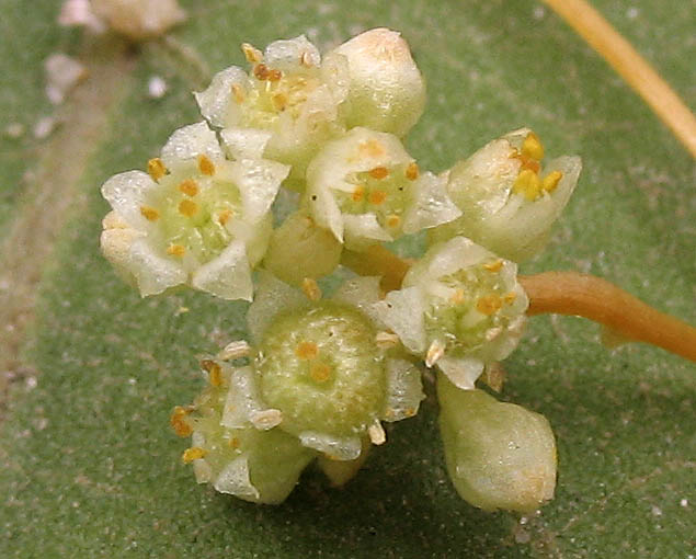
<path fill-rule="evenodd" d="M 208 176 L 181 174 L 168 175 L 160 184 L 163 194 L 153 206 L 161 214 L 157 225 L 167 254 L 192 254 L 201 263 L 218 256 L 232 240 L 225 224 L 241 214 L 237 186 Z M 182 192 L 182 184 L 189 194 Z"/>

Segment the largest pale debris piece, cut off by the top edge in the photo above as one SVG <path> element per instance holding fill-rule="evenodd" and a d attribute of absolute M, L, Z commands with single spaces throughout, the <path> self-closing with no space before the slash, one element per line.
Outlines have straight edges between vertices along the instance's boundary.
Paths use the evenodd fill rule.
<path fill-rule="evenodd" d="M 186 19 L 176 0 L 92 0 L 98 18 L 134 41 L 162 35 Z"/>

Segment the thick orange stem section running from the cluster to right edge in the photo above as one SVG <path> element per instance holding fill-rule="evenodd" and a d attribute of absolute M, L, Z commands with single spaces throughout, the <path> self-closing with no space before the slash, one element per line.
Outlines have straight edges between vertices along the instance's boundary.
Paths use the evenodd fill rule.
<path fill-rule="evenodd" d="M 544 272 L 518 280 L 529 296 L 529 316 L 581 316 L 630 341 L 651 343 L 696 362 L 696 328 L 653 309 L 606 280 L 578 272 Z"/>

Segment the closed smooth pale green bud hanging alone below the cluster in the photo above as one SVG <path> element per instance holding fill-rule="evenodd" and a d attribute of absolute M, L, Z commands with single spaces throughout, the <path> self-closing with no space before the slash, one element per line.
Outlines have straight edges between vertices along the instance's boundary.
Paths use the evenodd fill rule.
<path fill-rule="evenodd" d="M 440 430 L 457 493 L 484 511 L 529 513 L 552 499 L 556 442 L 549 422 L 437 376 Z"/>

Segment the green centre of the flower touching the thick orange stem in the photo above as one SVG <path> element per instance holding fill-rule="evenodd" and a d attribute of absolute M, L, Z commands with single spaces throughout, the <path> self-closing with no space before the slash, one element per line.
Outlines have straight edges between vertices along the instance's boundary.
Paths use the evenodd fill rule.
<path fill-rule="evenodd" d="M 495 261 L 487 265 L 495 265 Z M 438 278 L 449 297 L 432 296 L 425 312 L 429 340 L 440 340 L 447 351 L 470 353 L 487 342 L 491 329 L 509 326 L 505 307 L 514 295 L 502 284 L 500 275 L 482 265 L 459 270 Z"/>

